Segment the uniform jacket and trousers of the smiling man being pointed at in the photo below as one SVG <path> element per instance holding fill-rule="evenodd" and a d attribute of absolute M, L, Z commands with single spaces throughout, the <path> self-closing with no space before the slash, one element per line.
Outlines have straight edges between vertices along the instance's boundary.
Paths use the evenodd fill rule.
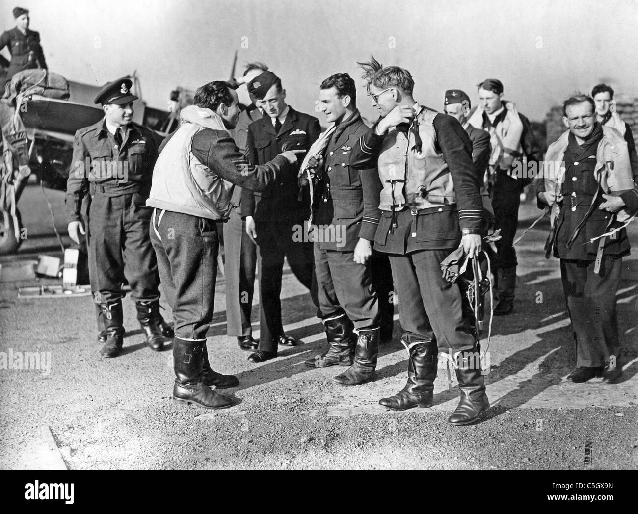
<path fill-rule="evenodd" d="M 352 149 L 366 132 L 359 111 L 337 126 L 325 150 L 325 171 L 313 199 L 320 311 L 324 319 L 345 311 L 357 330 L 376 327 L 379 311 L 371 260 L 366 265 L 353 260 L 359 239 L 375 239 L 380 217 L 376 168 L 358 170 L 350 162 Z"/>

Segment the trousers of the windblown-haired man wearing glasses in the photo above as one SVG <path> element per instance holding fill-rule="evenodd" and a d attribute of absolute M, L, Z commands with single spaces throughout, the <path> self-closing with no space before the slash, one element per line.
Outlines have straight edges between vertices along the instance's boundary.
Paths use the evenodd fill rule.
<path fill-rule="evenodd" d="M 390 254 L 392 277 L 399 297 L 403 340 L 436 341 L 438 348 L 468 351 L 474 348 L 471 320 L 463 319 L 463 297 L 457 284 L 441 275 L 441 261 L 450 249 Z"/>

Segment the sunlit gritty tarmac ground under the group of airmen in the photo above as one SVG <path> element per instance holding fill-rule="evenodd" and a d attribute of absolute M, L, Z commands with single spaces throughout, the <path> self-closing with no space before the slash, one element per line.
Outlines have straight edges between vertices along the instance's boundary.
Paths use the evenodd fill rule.
<path fill-rule="evenodd" d="M 63 193 L 46 195 L 64 232 Z M 39 186 L 27 186 L 20 210 L 28 238 L 18 258 L 60 256 Z M 525 203 L 521 229 L 538 214 Z M 378 405 L 405 382 L 398 321 L 374 382 L 341 388 L 330 382 L 339 368 L 306 367 L 306 358 L 322 353 L 324 335 L 308 292 L 287 268 L 283 320 L 300 345 L 259 365 L 225 335 L 219 277 L 209 354 L 214 369 L 241 382 L 228 391 L 237 406 L 223 411 L 172 402 L 170 345 L 159 353 L 145 347 L 129 298 L 124 351 L 102 359 L 90 297 L 17 297 L 20 286 L 56 279 L 0 284 L 0 352 L 41 352 L 41 368 L 50 362 L 48 371 L 0 369 L 0 469 L 636 469 L 638 223 L 630 225 L 636 249 L 618 291 L 625 373 L 614 385 L 565 380 L 574 348 L 558 261 L 542 251 L 548 230 L 545 220 L 517 245 L 515 311 L 494 318 L 489 346 L 491 408 L 469 427 L 446 422 L 458 390 L 454 373 L 449 389 L 445 370 L 432 408 L 395 413 Z M 163 312 L 171 319 L 170 309 Z"/>

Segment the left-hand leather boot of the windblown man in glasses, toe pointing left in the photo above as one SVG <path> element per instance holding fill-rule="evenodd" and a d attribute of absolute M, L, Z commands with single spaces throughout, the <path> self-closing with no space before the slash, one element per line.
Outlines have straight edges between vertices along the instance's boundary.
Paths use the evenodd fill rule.
<path fill-rule="evenodd" d="M 379 404 L 393 411 L 404 411 L 432 406 L 434 379 L 438 365 L 438 345 L 433 341 L 415 341 L 408 345 L 408 381 L 405 387 L 389 398 L 382 398 Z"/>

